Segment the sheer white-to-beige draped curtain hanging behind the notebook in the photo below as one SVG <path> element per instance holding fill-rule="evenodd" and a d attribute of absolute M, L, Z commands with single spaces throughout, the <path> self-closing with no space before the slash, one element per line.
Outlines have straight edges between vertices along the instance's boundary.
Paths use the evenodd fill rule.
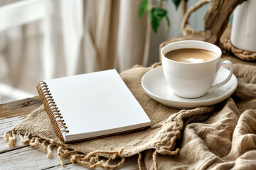
<path fill-rule="evenodd" d="M 67 74 L 112 68 L 122 72 L 134 64 L 146 65 L 149 27 L 146 16 L 137 17 L 138 4 L 137 0 L 63 1 Z"/>

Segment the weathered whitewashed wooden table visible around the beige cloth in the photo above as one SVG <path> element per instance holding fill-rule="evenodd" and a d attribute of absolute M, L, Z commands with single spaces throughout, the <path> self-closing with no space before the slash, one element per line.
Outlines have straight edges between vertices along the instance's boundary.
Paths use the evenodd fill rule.
<path fill-rule="evenodd" d="M 222 39 L 230 35 L 230 29 L 228 27 Z M 177 40 L 203 40 L 203 33 L 174 38 L 163 42 L 160 48 L 166 43 Z M 225 60 L 232 60 L 234 64 L 256 65 L 255 62 L 245 62 L 228 54 L 223 54 L 223 58 Z M 20 140 L 16 140 L 15 147 L 9 148 L 6 145 L 4 139 L 5 132 L 11 130 L 14 125 L 23 120 L 23 118 L 26 118 L 31 111 L 41 106 L 41 104 L 42 102 L 39 96 L 35 96 L 33 98 L 26 98 L 21 101 L 0 105 L 0 169 L 86 169 L 85 166 L 81 166 L 80 164 L 71 164 L 69 159 L 64 159 L 65 168 L 63 168 L 57 157 L 56 148 L 53 148 L 53 158 L 47 159 L 42 149 L 23 145 Z M 138 169 L 137 156 L 127 158 L 120 169 Z"/>

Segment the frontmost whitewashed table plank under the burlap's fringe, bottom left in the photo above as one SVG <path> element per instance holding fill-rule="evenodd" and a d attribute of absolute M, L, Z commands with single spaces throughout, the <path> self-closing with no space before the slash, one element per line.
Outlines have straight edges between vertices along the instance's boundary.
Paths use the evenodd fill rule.
<path fill-rule="evenodd" d="M 65 167 L 60 165 L 56 147 L 53 147 L 51 159 L 46 158 L 46 153 L 38 147 L 22 147 L 0 154 L 1 169 L 87 169 L 81 164 L 71 164 L 68 158 L 63 160 Z M 127 158 L 119 169 L 138 169 L 137 156 Z"/>

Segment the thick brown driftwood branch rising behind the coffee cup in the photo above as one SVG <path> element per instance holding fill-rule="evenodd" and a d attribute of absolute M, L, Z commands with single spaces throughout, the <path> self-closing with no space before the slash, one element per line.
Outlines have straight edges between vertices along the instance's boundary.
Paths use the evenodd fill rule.
<path fill-rule="evenodd" d="M 205 41 L 222 48 L 220 36 L 228 26 L 228 21 L 235 7 L 246 0 L 215 0 L 204 17 Z"/>

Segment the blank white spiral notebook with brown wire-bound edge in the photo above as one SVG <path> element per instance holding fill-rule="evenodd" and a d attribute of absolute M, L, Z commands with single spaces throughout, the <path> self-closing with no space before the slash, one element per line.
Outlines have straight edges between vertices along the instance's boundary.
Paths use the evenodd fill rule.
<path fill-rule="evenodd" d="M 40 81 L 36 89 L 56 135 L 65 143 L 151 124 L 115 69 Z"/>

